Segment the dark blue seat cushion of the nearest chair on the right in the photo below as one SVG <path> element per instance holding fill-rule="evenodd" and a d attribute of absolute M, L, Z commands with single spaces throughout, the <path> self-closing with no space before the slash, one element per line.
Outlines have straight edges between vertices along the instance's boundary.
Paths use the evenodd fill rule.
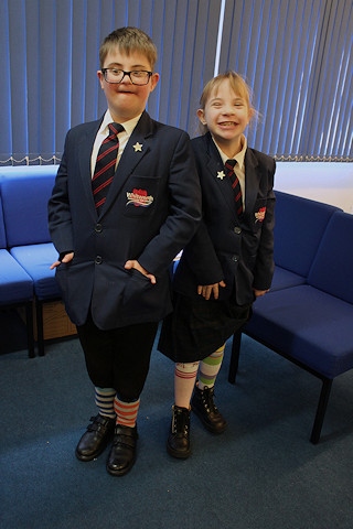
<path fill-rule="evenodd" d="M 353 305 L 299 285 L 254 303 L 246 332 L 329 378 L 353 367 Z"/>

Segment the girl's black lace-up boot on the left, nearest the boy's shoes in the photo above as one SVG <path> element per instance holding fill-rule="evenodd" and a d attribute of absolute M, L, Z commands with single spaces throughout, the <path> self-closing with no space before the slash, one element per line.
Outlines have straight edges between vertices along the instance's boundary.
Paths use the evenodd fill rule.
<path fill-rule="evenodd" d="M 169 455 L 180 460 L 186 460 L 190 450 L 190 410 L 173 406 L 173 417 L 170 433 L 167 441 Z"/>

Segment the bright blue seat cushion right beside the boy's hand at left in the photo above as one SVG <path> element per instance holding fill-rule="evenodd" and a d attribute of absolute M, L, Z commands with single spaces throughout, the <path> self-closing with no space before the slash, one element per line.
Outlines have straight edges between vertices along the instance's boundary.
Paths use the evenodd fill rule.
<path fill-rule="evenodd" d="M 61 296 L 55 270 L 50 269 L 51 264 L 57 259 L 57 251 L 52 242 L 17 246 L 11 248 L 10 252 L 31 276 L 34 292 L 39 300 L 45 301 Z"/>

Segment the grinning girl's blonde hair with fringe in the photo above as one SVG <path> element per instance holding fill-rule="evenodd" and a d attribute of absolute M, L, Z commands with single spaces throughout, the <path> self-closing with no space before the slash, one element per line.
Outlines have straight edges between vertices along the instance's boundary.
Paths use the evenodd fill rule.
<path fill-rule="evenodd" d="M 246 80 L 236 72 L 233 72 L 228 69 L 224 74 L 220 74 L 216 77 L 213 77 L 213 79 L 208 80 L 208 83 L 205 85 L 204 89 L 202 90 L 201 97 L 200 97 L 200 108 L 202 110 L 205 109 L 206 102 L 210 99 L 210 97 L 214 94 L 217 94 L 220 85 L 224 82 L 228 80 L 231 85 L 231 89 L 236 94 L 237 96 L 242 97 L 242 99 L 245 100 L 246 105 L 249 108 L 250 115 L 252 115 L 252 120 L 254 118 L 259 117 L 259 112 L 254 108 L 253 106 L 253 90 L 249 87 L 249 85 L 246 83 Z M 200 122 L 200 129 L 204 133 L 206 132 L 207 126 L 203 125 Z"/>

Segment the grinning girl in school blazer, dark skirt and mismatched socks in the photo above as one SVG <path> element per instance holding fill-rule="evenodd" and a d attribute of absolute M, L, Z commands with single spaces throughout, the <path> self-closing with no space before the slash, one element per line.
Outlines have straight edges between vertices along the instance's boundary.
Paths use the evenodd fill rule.
<path fill-rule="evenodd" d="M 191 409 L 211 432 L 225 430 L 214 402 L 225 342 L 248 320 L 274 273 L 276 165 L 247 147 L 244 131 L 256 115 L 250 89 L 238 74 L 227 72 L 206 84 L 200 102 L 204 134 L 192 145 L 203 219 L 175 270 L 174 311 L 164 320 L 159 342 L 159 349 L 175 361 L 167 449 L 180 458 L 191 453 Z"/>

